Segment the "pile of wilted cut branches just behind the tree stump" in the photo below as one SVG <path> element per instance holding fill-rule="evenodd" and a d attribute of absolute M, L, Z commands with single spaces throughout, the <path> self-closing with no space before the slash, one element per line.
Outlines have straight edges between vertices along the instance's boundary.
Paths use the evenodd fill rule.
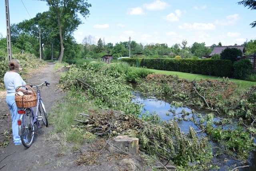
<path fill-rule="evenodd" d="M 84 119 L 75 119 L 78 124 L 73 127 L 82 127 L 84 132 L 90 131 L 95 135 L 108 135 L 109 139 L 116 135 L 137 137 L 142 151 L 169 161 L 172 159 L 179 165 L 186 164 L 182 160 L 192 163 L 200 155 L 209 152 L 206 150 L 208 140 L 205 137 L 199 138 L 192 127 L 185 135 L 176 121 L 161 121 L 159 115 L 152 115 L 148 121 L 113 110 L 90 110 L 88 114 L 80 115 Z"/>

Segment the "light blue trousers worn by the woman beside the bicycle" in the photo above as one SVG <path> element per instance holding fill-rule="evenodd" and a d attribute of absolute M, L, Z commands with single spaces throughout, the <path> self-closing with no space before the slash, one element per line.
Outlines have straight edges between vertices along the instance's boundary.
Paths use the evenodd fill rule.
<path fill-rule="evenodd" d="M 15 96 L 6 96 L 6 103 L 9 106 L 9 109 L 12 113 L 12 137 L 14 143 L 20 142 L 19 136 L 19 126 L 18 126 L 18 119 L 20 119 L 20 114 L 18 114 L 18 107 L 15 103 Z"/>

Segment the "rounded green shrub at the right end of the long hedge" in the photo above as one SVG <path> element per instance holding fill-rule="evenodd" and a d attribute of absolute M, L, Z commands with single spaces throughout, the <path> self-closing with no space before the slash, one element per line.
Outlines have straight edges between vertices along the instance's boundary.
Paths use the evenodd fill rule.
<path fill-rule="evenodd" d="M 245 80 L 252 74 L 252 63 L 248 59 L 242 59 L 234 63 L 234 78 Z"/>

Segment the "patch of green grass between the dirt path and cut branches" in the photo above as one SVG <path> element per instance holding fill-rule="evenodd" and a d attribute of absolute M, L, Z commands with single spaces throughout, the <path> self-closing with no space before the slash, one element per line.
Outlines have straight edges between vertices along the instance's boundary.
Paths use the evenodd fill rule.
<path fill-rule="evenodd" d="M 88 109 L 95 109 L 93 101 L 80 99 L 76 95 L 67 93 L 62 101 L 56 103 L 53 111 L 49 113 L 50 125 L 54 125 L 54 131 L 51 133 L 62 133 L 62 141 L 81 145 L 84 141 L 84 130 L 79 127 L 71 127 L 77 125 L 78 122 L 74 119 L 85 120 L 86 118 L 79 113 L 88 113 Z M 56 135 L 55 135 L 56 136 Z M 87 136 L 87 138 L 89 138 Z"/>

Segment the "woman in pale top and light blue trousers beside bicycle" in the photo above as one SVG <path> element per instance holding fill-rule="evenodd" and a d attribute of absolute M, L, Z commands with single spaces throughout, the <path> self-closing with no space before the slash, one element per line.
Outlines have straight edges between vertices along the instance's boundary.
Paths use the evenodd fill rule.
<path fill-rule="evenodd" d="M 19 60 L 11 60 L 8 66 L 9 71 L 4 75 L 4 85 L 7 89 L 6 102 L 9 106 L 10 112 L 12 113 L 12 136 L 14 145 L 19 145 L 22 144 L 18 133 L 18 119 L 20 119 L 20 114 L 18 114 L 18 107 L 15 103 L 15 92 L 18 86 L 26 85 L 26 82 L 24 82 L 20 74 L 18 74 L 18 70 L 20 68 Z M 24 94 L 32 93 L 32 91 L 27 91 L 26 89 L 20 89 L 20 91 Z"/>

